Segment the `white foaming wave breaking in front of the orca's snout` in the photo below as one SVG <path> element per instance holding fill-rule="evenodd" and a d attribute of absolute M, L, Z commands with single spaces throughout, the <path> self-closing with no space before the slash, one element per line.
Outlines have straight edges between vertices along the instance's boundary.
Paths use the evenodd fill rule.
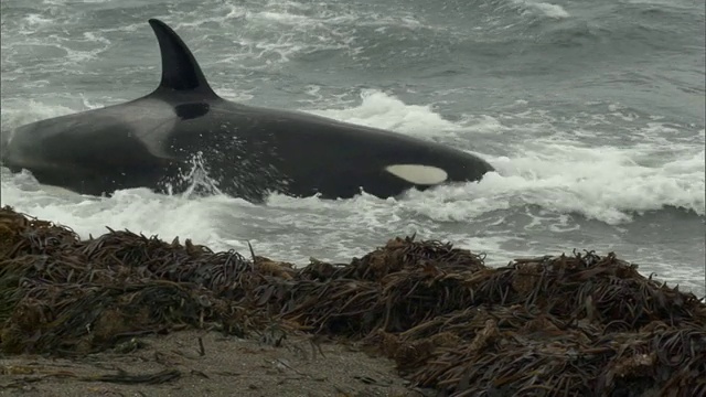
<path fill-rule="evenodd" d="M 704 216 L 704 152 L 663 167 L 635 163 L 613 148 L 547 144 L 545 153 L 495 158 L 499 170 L 480 182 L 411 193 L 406 206 L 436 221 L 471 221 L 517 205 L 581 214 L 607 224 L 674 206 Z"/>

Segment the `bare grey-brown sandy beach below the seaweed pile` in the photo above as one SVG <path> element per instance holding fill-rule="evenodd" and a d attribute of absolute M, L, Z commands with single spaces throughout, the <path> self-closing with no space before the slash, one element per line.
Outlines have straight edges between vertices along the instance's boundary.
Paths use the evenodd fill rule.
<path fill-rule="evenodd" d="M 387 358 L 371 357 L 351 345 L 314 345 L 307 336 L 288 336 L 276 347 L 217 332 L 180 331 L 137 337 L 113 351 L 72 360 L 0 358 L 2 396 L 434 395 L 408 385 Z"/>

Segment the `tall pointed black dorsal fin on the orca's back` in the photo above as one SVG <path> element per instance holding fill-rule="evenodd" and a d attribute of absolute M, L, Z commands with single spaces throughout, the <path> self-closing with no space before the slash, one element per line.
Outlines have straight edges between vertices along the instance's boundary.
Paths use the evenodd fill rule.
<path fill-rule="evenodd" d="M 150 19 L 149 23 L 162 53 L 162 81 L 157 92 L 189 92 L 217 98 L 201 72 L 201 66 L 181 37 L 158 19 Z"/>

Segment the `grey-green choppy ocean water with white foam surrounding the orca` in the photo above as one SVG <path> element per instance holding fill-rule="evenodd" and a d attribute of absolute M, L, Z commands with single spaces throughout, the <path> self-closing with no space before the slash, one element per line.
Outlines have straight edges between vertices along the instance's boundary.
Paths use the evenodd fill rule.
<path fill-rule="evenodd" d="M 705 285 L 705 30 L 696 0 L 2 0 L 2 133 L 159 81 L 159 18 L 223 97 L 453 144 L 477 183 L 381 200 L 111 197 L 2 169 L 3 205 L 306 265 L 416 233 L 513 258 L 616 251 Z M 234 167 L 237 164 L 234 164 Z"/>

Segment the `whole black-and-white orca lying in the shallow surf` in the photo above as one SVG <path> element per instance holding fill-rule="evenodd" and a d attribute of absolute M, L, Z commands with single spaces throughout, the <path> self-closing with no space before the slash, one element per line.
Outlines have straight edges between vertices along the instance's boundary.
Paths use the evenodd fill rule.
<path fill-rule="evenodd" d="M 124 104 L 17 128 L 2 163 L 81 194 L 130 187 L 183 192 L 197 164 L 217 189 L 257 202 L 271 192 L 347 198 L 478 181 L 493 168 L 470 153 L 402 133 L 221 98 L 182 39 L 150 19 L 161 82 Z"/>

